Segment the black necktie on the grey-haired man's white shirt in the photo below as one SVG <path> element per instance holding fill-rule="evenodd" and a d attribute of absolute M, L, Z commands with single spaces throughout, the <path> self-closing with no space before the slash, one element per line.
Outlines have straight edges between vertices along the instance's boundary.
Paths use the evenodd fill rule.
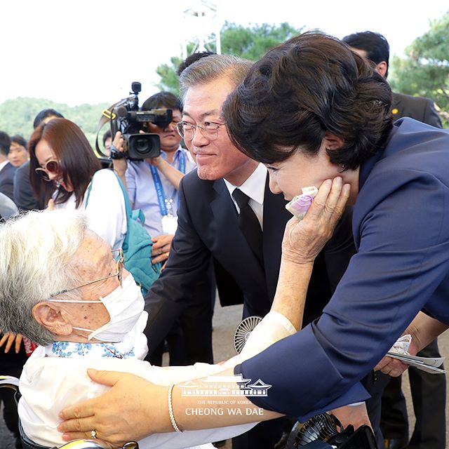
<path fill-rule="evenodd" d="M 260 228 L 260 223 L 259 220 L 257 220 L 254 210 L 248 203 L 250 197 L 239 189 L 235 189 L 234 192 L 232 192 L 232 196 L 240 209 L 238 220 L 241 232 L 243 236 L 245 236 L 251 250 L 253 250 L 253 253 L 263 265 L 262 229 Z"/>

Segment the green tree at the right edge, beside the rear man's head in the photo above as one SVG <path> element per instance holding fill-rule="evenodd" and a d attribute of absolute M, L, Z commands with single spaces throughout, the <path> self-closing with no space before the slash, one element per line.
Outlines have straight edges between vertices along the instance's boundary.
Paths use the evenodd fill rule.
<path fill-rule="evenodd" d="M 449 11 L 406 48 L 405 58 L 395 56 L 391 68 L 389 81 L 394 91 L 431 98 L 448 127 Z"/>

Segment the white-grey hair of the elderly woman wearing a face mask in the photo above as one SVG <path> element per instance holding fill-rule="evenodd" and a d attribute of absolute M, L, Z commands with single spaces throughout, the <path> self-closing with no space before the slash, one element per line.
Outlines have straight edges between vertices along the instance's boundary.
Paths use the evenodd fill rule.
<path fill-rule="evenodd" d="M 86 228 L 86 217 L 74 210 L 32 211 L 0 225 L 0 330 L 53 342 L 32 309 L 76 285 L 70 264 Z"/>

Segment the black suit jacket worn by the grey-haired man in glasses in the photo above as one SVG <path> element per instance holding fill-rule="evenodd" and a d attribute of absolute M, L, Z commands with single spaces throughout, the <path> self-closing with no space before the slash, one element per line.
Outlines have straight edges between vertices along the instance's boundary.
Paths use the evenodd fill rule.
<path fill-rule="evenodd" d="M 243 293 L 243 316 L 267 314 L 279 276 L 283 231 L 291 217 L 285 205 L 283 196 L 272 194 L 266 182 L 262 267 L 239 229 L 236 208 L 225 182 L 201 180 L 196 170 L 182 179 L 177 232 L 170 257 L 145 298 L 149 312 L 145 333 L 150 352 L 187 306 L 210 302 L 211 281 L 207 274 L 211 257 Z M 316 258 L 304 323 L 321 314 L 354 251 L 351 214 L 347 210 L 333 239 Z M 232 298 L 223 300 L 232 302 Z"/>

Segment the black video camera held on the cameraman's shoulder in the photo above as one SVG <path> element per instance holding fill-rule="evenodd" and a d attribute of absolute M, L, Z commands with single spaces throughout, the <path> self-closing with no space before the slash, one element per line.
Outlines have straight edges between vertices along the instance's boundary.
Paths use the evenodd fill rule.
<path fill-rule="evenodd" d="M 123 98 L 119 102 L 105 109 L 103 116 L 111 123 L 112 138 L 117 131 L 123 137 L 124 152 L 118 152 L 111 148 L 112 159 L 122 159 L 124 157 L 132 160 L 141 160 L 147 157 L 156 157 L 161 154 L 161 142 L 156 133 L 140 133 L 144 123 L 154 123 L 166 128 L 172 121 L 171 109 L 150 109 L 149 111 L 139 110 L 138 94 L 142 90 L 142 85 L 135 81 L 131 84 L 130 96 Z M 98 148 L 97 148 L 98 149 Z M 100 151 L 102 154 L 102 152 Z"/>

